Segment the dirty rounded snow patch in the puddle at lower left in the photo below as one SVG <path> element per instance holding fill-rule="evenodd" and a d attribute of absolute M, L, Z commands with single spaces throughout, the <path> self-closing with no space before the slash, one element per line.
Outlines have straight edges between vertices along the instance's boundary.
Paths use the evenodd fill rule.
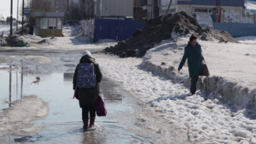
<path fill-rule="evenodd" d="M 33 95 L 13 102 L 11 107 L 0 113 L 0 141 L 9 142 L 9 135 L 34 134 L 42 126 L 33 127 L 32 121 L 43 119 L 48 111 L 48 104 Z"/>

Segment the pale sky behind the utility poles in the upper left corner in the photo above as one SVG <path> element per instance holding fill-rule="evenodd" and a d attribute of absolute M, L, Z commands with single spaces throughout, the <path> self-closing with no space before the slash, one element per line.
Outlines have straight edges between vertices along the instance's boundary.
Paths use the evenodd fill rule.
<path fill-rule="evenodd" d="M 17 1 L 18 0 L 13 0 L 13 18 L 17 18 Z M 26 0 L 24 1 L 26 2 Z M 19 11 L 21 8 L 21 4 L 22 4 L 22 0 L 19 0 Z M 0 15 L 2 14 L 2 16 L 5 18 L 9 17 L 11 13 L 10 9 L 11 9 L 11 0 L 0 0 Z"/>

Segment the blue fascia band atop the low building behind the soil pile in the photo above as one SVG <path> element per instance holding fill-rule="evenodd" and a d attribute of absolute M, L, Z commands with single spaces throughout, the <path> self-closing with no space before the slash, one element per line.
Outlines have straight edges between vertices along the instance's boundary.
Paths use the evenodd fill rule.
<path fill-rule="evenodd" d="M 218 0 L 177 1 L 180 5 L 208 5 L 216 6 Z M 219 0 L 221 6 L 244 6 L 244 0 Z"/>

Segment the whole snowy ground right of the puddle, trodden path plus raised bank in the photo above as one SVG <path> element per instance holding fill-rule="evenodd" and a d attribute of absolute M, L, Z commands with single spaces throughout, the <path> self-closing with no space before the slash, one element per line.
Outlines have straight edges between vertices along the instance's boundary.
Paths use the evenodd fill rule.
<path fill-rule="evenodd" d="M 176 127 L 165 131 L 161 125 L 153 126 L 164 141 L 168 139 L 157 143 L 256 144 L 254 46 L 200 41 L 211 76 L 200 78 L 201 90 L 187 96 L 187 64 L 182 73 L 176 71 L 187 39 L 162 41 L 143 59 L 101 55 L 96 60 L 103 76 L 131 92 L 143 107 L 154 109 L 165 127 Z M 170 139 L 170 131 L 182 138 Z"/>

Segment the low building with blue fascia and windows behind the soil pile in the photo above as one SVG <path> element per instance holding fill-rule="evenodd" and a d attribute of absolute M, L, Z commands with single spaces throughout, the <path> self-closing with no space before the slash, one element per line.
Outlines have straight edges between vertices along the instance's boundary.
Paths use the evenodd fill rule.
<path fill-rule="evenodd" d="M 159 1 L 159 15 L 184 11 L 194 17 L 210 15 L 214 22 L 239 23 L 244 6 L 244 0 L 173 0 L 168 10 L 169 2 Z"/>

